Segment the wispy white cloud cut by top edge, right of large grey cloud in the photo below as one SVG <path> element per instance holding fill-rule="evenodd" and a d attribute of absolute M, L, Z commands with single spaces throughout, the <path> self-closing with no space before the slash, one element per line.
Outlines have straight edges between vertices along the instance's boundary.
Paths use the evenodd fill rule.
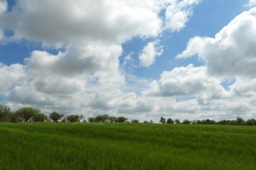
<path fill-rule="evenodd" d="M 189 17 L 193 15 L 192 7 L 199 4 L 200 0 L 173 0 L 165 11 L 165 29 L 180 31 L 186 26 Z"/>

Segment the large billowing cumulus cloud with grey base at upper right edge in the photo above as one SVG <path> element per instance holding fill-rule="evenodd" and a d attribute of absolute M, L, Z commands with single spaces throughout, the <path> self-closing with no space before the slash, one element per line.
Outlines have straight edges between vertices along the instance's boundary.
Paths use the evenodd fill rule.
<path fill-rule="evenodd" d="M 242 12 L 215 35 L 195 37 L 177 58 L 198 54 L 210 73 L 222 76 L 255 76 L 256 7 Z"/>

